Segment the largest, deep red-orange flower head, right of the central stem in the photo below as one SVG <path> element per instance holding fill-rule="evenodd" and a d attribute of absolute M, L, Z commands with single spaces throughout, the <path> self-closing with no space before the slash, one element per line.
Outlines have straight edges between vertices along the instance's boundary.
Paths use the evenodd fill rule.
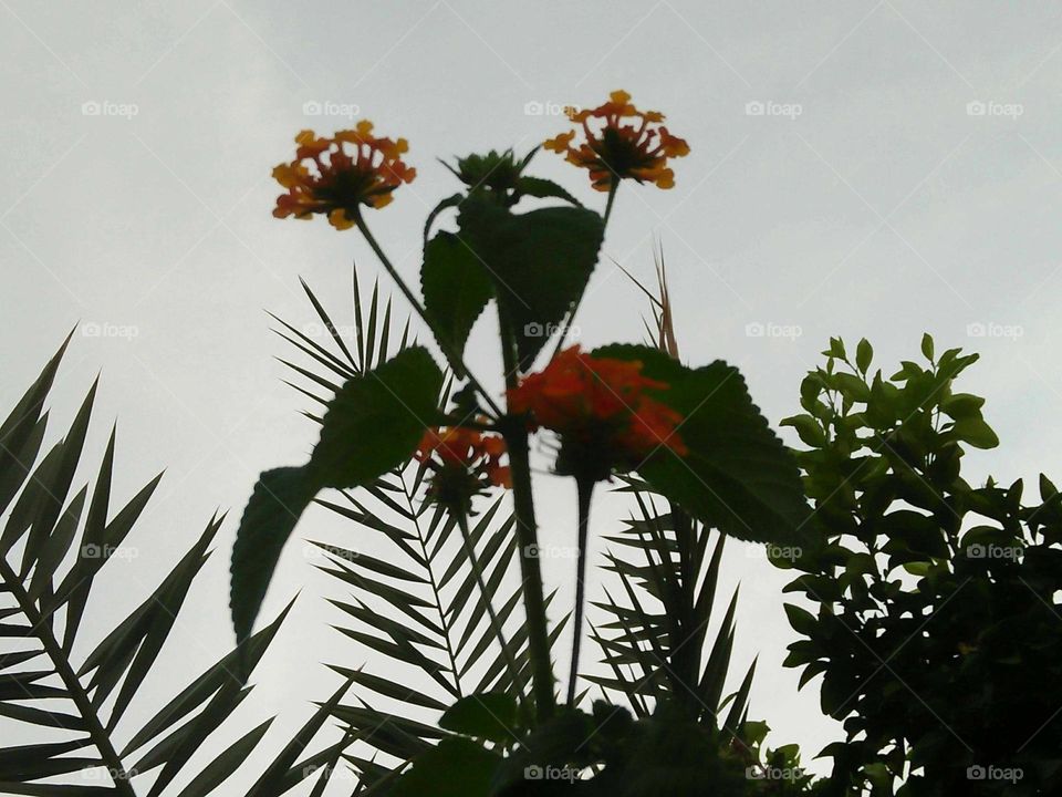
<path fill-rule="evenodd" d="M 648 391 L 668 385 L 642 375 L 638 361 L 596 358 L 572 346 L 509 391 L 509 410 L 556 432 L 558 473 L 602 480 L 633 470 L 658 448 L 688 451 L 676 432 L 683 416 Z"/>

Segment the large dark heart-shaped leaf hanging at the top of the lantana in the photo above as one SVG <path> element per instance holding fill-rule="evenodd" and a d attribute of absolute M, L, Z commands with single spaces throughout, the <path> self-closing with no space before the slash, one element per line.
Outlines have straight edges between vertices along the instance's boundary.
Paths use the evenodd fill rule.
<path fill-rule="evenodd" d="M 585 208 L 518 215 L 475 199 L 461 206 L 458 221 L 462 240 L 494 281 L 525 370 L 582 297 L 597 263 L 604 222 Z"/>

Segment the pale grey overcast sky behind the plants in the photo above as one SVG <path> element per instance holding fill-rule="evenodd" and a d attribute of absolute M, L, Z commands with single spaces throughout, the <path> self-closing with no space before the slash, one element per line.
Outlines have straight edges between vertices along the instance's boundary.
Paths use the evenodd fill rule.
<path fill-rule="evenodd" d="M 116 614 L 215 509 L 231 510 L 149 704 L 231 644 L 236 518 L 260 470 L 302 462 L 315 441 L 266 311 L 320 334 L 301 277 L 351 323 L 352 260 L 363 282 L 392 289 L 356 232 L 271 217 L 270 169 L 305 127 L 371 118 L 409 139 L 418 177 L 371 224 L 416 283 L 424 217 L 456 189 L 438 158 L 522 153 L 565 128 L 562 106 L 625 89 L 691 153 L 673 190 L 620 192 L 579 342 L 641 339 L 646 301 L 618 266 L 652 280 L 662 247 L 684 361 L 738 365 L 775 426 L 831 335 L 868 338 L 888 375 L 928 331 L 938 349 L 981 353 L 964 389 L 987 397 L 1002 445 L 970 455 L 968 478 L 1062 469 L 1050 422 L 1062 402 L 1055 3 L 0 0 L 0 406 L 74 329 L 53 416 L 69 418 L 102 373 L 90 448 L 102 452 L 116 420 L 116 494 L 165 469 L 136 561 L 101 587 Z M 553 154 L 534 172 L 602 204 Z M 498 372 L 489 321 L 467 360 Z M 538 490 L 543 540 L 563 545 L 574 497 L 548 476 Z M 626 511 L 602 507 L 596 536 Z M 351 534 L 325 514 L 296 531 Z M 256 711 L 280 713 L 278 728 L 329 693 L 319 662 L 367 658 L 327 628 L 335 584 L 300 550 L 287 550 L 263 609 L 302 590 L 259 679 Z M 569 568 L 549 562 L 548 582 L 565 584 Z M 794 639 L 785 581 L 733 546 L 721 590 L 741 583 L 736 667 L 759 656 L 751 714 L 810 756 L 840 728 L 819 712 L 818 681 L 798 693 L 799 673 L 781 666 Z M 102 634 L 97 623 L 86 631 Z"/>

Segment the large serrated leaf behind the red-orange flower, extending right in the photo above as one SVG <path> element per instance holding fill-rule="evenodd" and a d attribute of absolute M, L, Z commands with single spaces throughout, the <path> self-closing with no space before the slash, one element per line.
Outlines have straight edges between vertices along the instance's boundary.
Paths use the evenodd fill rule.
<path fill-rule="evenodd" d="M 638 468 L 653 489 L 699 520 L 757 542 L 801 541 L 810 509 L 796 464 L 752 404 L 745 379 L 717 360 L 690 370 L 647 346 L 611 345 L 594 356 L 636 360 L 669 386 L 656 397 L 683 416 L 676 433 L 689 449 L 662 445 Z"/>

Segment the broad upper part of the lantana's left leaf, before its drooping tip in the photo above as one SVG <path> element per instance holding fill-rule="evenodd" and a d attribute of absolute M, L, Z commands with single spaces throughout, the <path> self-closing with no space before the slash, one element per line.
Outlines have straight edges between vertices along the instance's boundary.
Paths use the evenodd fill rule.
<path fill-rule="evenodd" d="M 442 372 L 423 346 L 347 381 L 329 404 L 311 478 L 325 487 L 360 487 L 407 462 L 425 428 L 438 423 L 441 390 Z"/>

